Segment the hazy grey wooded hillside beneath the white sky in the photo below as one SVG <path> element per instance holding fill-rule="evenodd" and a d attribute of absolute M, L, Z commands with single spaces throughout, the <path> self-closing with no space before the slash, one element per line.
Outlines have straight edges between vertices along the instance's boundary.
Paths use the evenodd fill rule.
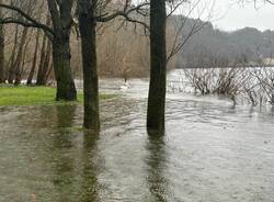
<path fill-rule="evenodd" d="M 181 16 L 173 16 L 175 21 Z M 184 32 L 195 23 L 186 21 Z M 215 29 L 210 22 L 192 36 L 176 56 L 176 68 L 273 66 L 274 31 L 246 27 L 233 32 Z"/>

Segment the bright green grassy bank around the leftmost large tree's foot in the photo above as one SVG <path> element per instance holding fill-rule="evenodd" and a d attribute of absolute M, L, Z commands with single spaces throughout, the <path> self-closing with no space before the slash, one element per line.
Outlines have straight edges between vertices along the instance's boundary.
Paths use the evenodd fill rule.
<path fill-rule="evenodd" d="M 0 106 L 9 105 L 53 105 L 83 102 L 83 93 L 78 92 L 77 102 L 55 101 L 56 89 L 52 87 L 0 86 Z M 101 94 L 100 99 L 111 99 L 114 94 Z"/>

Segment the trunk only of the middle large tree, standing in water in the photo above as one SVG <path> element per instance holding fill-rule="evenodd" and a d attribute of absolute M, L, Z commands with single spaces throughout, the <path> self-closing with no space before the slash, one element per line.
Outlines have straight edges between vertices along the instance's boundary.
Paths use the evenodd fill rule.
<path fill-rule="evenodd" d="M 87 2 L 85 2 L 87 3 Z M 82 3 L 84 5 L 84 3 Z M 91 8 L 85 10 L 85 8 Z M 94 8 L 80 9 L 79 24 L 82 46 L 84 120 L 83 126 L 91 131 L 100 130 L 99 85 L 96 67 L 96 23 L 92 20 Z"/>

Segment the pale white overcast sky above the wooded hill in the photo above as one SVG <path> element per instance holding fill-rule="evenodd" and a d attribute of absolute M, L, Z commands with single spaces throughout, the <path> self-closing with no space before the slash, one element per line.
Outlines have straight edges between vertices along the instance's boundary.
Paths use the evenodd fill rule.
<path fill-rule="evenodd" d="M 274 31 L 274 4 L 263 3 L 264 0 L 256 1 L 261 3 L 255 5 L 253 0 L 190 0 L 191 3 L 183 4 L 175 13 L 189 15 L 192 11 L 190 16 L 210 21 L 216 27 L 225 31 L 246 26 Z"/>

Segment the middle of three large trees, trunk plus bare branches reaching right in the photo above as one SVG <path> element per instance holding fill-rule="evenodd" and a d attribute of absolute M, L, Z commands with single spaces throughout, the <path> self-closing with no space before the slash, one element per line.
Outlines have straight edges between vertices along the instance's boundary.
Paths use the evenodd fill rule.
<path fill-rule="evenodd" d="M 96 24 L 110 22 L 116 18 L 123 18 L 135 23 L 142 23 L 138 20 L 134 20 L 130 14 L 135 11 L 140 11 L 145 5 L 147 5 L 147 3 L 134 7 L 129 0 L 121 2 L 79 0 L 78 2 L 83 66 L 83 126 L 88 130 L 100 130 Z"/>

